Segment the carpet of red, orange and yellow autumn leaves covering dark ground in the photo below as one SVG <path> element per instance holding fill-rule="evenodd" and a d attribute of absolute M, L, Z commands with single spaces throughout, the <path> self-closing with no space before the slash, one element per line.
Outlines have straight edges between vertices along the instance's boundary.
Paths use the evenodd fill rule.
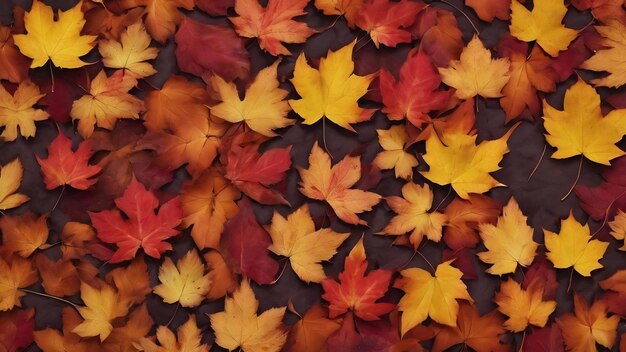
<path fill-rule="evenodd" d="M 300 54 L 291 78 L 299 98 L 292 100 L 286 100 L 289 92 L 280 87 L 280 60 L 261 69 L 245 91 L 234 82 L 245 82 L 250 71 L 242 37 L 257 38 L 261 49 L 278 56 L 290 55 L 284 43 L 303 43 L 318 32 L 293 20 L 305 14 L 307 1 L 269 0 L 265 8 L 256 0 L 85 2 L 56 18 L 49 6 L 35 1 L 28 12 L 16 11 L 16 25 L 0 27 L 0 78 L 13 83 L 0 85 L 2 138 L 11 143 L 18 136 L 33 137 L 35 123 L 52 114 L 35 107 L 45 94 L 29 80 L 29 67 L 50 62 L 59 68 L 80 68 L 86 65 L 80 57 L 97 46 L 107 70 L 94 75 L 69 111 L 85 140 L 74 150 L 59 129 L 48 154 L 36 157 L 47 190 L 61 188 L 63 194 L 66 187 L 85 192 L 95 188 L 118 196 L 114 207 L 87 213 L 91 225 L 75 221 L 65 225 L 60 234 L 62 257 L 56 261 L 41 253 L 54 246 L 48 243 L 46 214 L 3 213 L 0 346 L 20 350 L 34 337 L 44 351 L 208 351 L 193 314 L 174 331 L 160 326 L 150 336 L 153 321 L 145 299 L 154 293 L 165 303 L 185 308 L 224 299 L 223 311 L 210 315 L 210 328 L 215 344 L 228 350 L 419 351 L 427 340 L 436 351 L 457 344 L 478 351 L 512 350 L 514 344 L 501 341 L 507 331 L 524 336 L 528 332 L 521 338 L 523 346 L 515 347 L 528 351 L 546 345 L 551 351 L 565 347 L 595 351 L 596 343 L 612 348 L 625 314 L 625 270 L 601 282 L 605 293 L 591 305 L 574 294 L 574 312 L 549 323 L 556 309 L 553 268 L 591 276 L 602 267 L 599 260 L 609 243 L 594 239 L 589 227 L 570 214 L 558 233 L 544 230 L 547 260 L 536 257 L 539 244 L 515 199 L 501 209 L 483 195 L 503 186 L 490 173 L 499 169 L 517 125 L 500 138 L 478 144 L 474 129 L 474 98 L 499 98 L 507 122 L 542 110 L 546 141 L 556 148 L 553 158 L 580 156 L 581 163 L 585 157 L 610 165 L 624 155 L 615 143 L 626 134 L 626 110 L 603 116 L 600 96 L 582 79 L 565 93 L 563 110 L 545 102 L 540 109 L 538 92 L 554 91 L 575 67 L 607 71 L 591 82 L 597 86 L 626 83 L 626 15 L 621 3 L 573 3 L 591 10 L 600 22 L 589 28 L 601 44 L 590 58 L 583 54 L 582 36 L 576 39 L 580 33 L 562 25 L 567 8 L 560 1 L 536 0 L 529 10 L 516 0 L 467 0 L 484 21 L 511 20 L 510 35 L 498 44 L 501 58 L 494 58 L 477 36 L 464 46 L 454 16 L 441 8 L 408 0 L 316 0 L 318 10 L 366 31 L 376 47 L 395 47 L 415 37 L 420 44 L 408 54 L 399 78 L 380 70 L 378 97 L 368 92 L 376 74 L 354 73 L 356 41 L 329 51 L 315 67 Z M 229 20 L 234 30 L 192 20 L 179 11 L 198 7 L 211 15 L 225 15 L 233 5 L 237 16 Z M 99 40 L 94 35 L 98 33 Z M 150 60 L 159 49 L 152 40 L 164 43 L 174 33 L 179 68 L 201 77 L 206 85 L 172 76 L 143 99 L 133 95 L 140 80 L 156 73 Z M 443 89 L 442 82 L 453 89 Z M 359 156 L 346 156 L 333 165 L 329 154 L 315 144 L 308 167 L 298 167 L 299 191 L 327 203 L 341 221 L 367 225 L 359 214 L 382 200 L 369 191 L 379 180 L 372 170 L 394 170 L 407 183 L 401 196 L 385 198 L 396 215 L 379 235 L 396 236 L 395 243 L 415 251 L 424 241 L 443 239 L 451 248 L 447 258 L 461 258 L 463 253 L 469 258 L 468 248 L 482 243 L 486 250 L 478 258 L 491 265 L 488 273 L 502 276 L 528 268 L 522 283 L 511 276 L 501 282 L 494 298 L 497 311 L 478 313 L 461 279 L 468 273 L 455 267 L 468 265 L 462 259 L 461 263 L 446 259 L 432 272 L 408 268 L 396 275 L 386 269 L 368 270 L 361 239 L 338 278 L 327 278 L 321 263 L 337 253 L 348 233 L 316 226 L 306 204 L 286 217 L 275 212 L 265 226 L 257 221 L 251 201 L 289 205 L 279 186 L 292 166 L 290 148 L 260 152 L 261 144 L 277 136 L 275 130 L 296 122 L 287 118 L 291 110 L 305 125 L 328 119 L 354 131 L 352 125 L 370 120 L 375 111 L 359 106 L 366 94 L 382 102 L 382 112 L 390 120 L 406 124 L 377 131 L 383 150 L 373 168 L 362 167 Z M 433 119 L 436 111 L 441 116 Z M 125 123 L 120 119 L 140 119 L 147 132 L 129 138 L 134 136 L 128 132 L 133 125 L 119 127 Z M 409 148 L 424 141 L 422 158 L 428 171 L 421 175 L 434 184 L 449 185 L 458 195 L 442 211 L 433 206 L 428 183 L 411 181 L 418 159 Z M 90 163 L 94 151 L 109 154 Z M 156 192 L 171 180 L 172 171 L 183 166 L 190 178 L 180 195 Z M 2 211 L 28 206 L 29 197 L 18 190 L 22 176 L 20 159 L 2 166 Z M 616 200 L 605 205 L 607 217 Z M 618 212 L 609 226 L 616 239 L 624 239 L 626 214 Z M 176 262 L 166 256 L 159 283 L 151 285 L 143 255 L 162 258 L 172 250 L 168 239 L 186 228 L 191 228 L 197 249 Z M 140 250 L 144 254 L 138 254 Z M 88 255 L 124 265 L 102 277 L 85 260 Z M 287 258 L 303 282 L 320 283 L 327 306 L 316 303 L 301 314 L 289 304 L 259 314 L 250 280 L 271 285 L 280 279 L 273 255 Z M 38 282 L 45 293 L 28 289 Z M 397 305 L 379 302 L 392 282 L 404 293 L 402 298 Z M 62 331 L 42 328 L 33 333 L 36 312 L 15 308 L 25 294 L 59 300 L 80 295 L 82 304 L 64 301 L 72 307 L 63 310 Z M 282 322 L 286 309 L 299 317 L 291 327 Z"/>

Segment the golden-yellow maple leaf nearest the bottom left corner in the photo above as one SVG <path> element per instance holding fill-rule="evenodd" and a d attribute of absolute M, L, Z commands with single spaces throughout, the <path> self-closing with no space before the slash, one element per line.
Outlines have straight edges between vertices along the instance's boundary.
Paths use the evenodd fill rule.
<path fill-rule="evenodd" d="M 80 298 L 85 306 L 78 307 L 78 312 L 84 320 L 72 332 L 82 337 L 100 336 L 100 341 L 104 341 L 113 331 L 111 321 L 128 313 L 128 302 L 121 300 L 113 287 L 104 283 L 100 288 L 81 283 Z"/>

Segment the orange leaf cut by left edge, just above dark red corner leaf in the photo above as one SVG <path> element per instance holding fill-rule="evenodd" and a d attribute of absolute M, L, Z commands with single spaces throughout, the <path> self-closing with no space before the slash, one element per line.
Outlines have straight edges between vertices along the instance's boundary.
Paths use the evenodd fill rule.
<path fill-rule="evenodd" d="M 0 257 L 0 312 L 21 307 L 20 298 L 25 293 L 20 289 L 37 280 L 37 271 L 29 260 L 15 255 L 9 260 Z"/>

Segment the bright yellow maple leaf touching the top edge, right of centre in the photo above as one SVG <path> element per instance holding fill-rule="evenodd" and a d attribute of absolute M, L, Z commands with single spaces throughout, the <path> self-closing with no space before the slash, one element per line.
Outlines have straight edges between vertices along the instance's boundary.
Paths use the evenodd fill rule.
<path fill-rule="evenodd" d="M 566 12 L 567 7 L 562 0 L 535 0 L 532 11 L 518 0 L 513 0 L 509 26 L 511 35 L 525 42 L 536 40 L 550 56 L 557 56 L 578 35 L 577 31 L 561 24 Z"/>

